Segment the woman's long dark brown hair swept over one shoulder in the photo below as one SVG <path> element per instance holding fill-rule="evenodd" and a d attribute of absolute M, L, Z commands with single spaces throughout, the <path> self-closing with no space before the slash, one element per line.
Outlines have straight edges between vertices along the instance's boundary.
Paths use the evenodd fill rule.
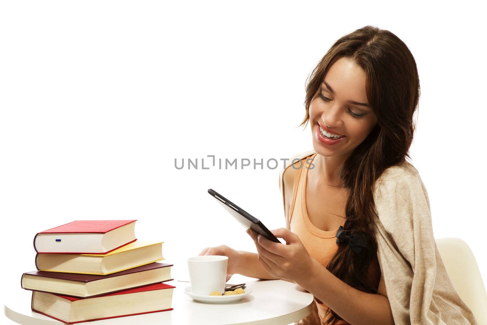
<path fill-rule="evenodd" d="M 420 96 L 416 62 L 404 42 L 387 30 L 365 26 L 338 39 L 318 62 L 306 80 L 306 116 L 326 72 L 339 57 L 348 57 L 366 74 L 367 99 L 377 116 L 377 124 L 346 159 L 340 170 L 342 186 L 349 189 L 344 229 L 349 235 L 361 232 L 368 249 L 356 254 L 347 244 L 339 244 L 326 267 L 337 278 L 358 290 L 377 293 L 380 278 L 371 280 L 370 267 L 376 263 L 377 243 L 371 223 L 377 214 L 373 197 L 375 180 L 396 164 L 411 159 L 409 148 L 415 130 L 413 114 Z M 306 126 L 306 125 L 305 125 Z M 331 311 L 326 322 L 342 320 Z"/>

